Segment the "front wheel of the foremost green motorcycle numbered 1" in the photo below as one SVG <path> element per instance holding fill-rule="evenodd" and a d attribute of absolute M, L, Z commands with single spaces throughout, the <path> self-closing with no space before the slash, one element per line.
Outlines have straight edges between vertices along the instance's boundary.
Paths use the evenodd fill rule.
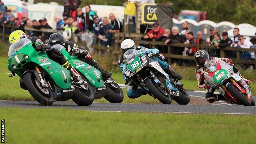
<path fill-rule="evenodd" d="M 55 91 L 50 87 L 42 87 L 34 73 L 25 73 L 23 75 L 24 85 L 29 93 L 42 105 L 48 106 L 53 104 Z"/>

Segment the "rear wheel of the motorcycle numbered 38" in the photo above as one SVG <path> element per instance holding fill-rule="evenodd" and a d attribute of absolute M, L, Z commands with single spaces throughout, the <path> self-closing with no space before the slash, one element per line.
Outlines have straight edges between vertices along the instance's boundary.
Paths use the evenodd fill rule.
<path fill-rule="evenodd" d="M 190 96 L 183 87 L 177 88 L 179 90 L 179 96 L 171 97 L 171 99 L 176 101 L 179 105 L 187 105 L 190 102 Z"/>

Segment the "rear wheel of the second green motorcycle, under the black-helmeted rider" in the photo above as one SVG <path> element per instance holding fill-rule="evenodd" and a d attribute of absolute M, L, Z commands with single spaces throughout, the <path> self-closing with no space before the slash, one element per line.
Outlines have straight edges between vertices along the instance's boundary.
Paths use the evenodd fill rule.
<path fill-rule="evenodd" d="M 106 85 L 107 95 L 104 98 L 110 103 L 121 103 L 123 101 L 123 91 L 117 83 L 114 85 L 117 88 Z"/>

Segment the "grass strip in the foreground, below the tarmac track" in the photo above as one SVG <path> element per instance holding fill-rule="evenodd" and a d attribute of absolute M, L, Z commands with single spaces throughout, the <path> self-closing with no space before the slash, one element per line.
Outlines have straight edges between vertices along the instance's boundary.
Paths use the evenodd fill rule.
<path fill-rule="evenodd" d="M 2 108 L 7 144 L 255 144 L 255 116 Z"/>

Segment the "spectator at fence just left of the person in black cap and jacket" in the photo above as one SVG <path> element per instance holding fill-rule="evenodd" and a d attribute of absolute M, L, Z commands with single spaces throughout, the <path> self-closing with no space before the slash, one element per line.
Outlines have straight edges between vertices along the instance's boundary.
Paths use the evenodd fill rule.
<path fill-rule="evenodd" d="M 211 41 L 211 45 L 219 48 L 219 43 L 220 43 L 220 34 L 219 32 L 215 32 L 213 35 L 214 39 Z M 210 57 L 220 57 L 220 50 L 217 49 L 208 49 L 208 53 Z"/>

